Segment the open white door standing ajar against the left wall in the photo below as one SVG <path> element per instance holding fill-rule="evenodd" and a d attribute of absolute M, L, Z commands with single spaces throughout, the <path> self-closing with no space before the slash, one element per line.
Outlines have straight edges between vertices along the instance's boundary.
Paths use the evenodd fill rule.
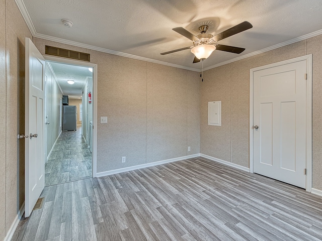
<path fill-rule="evenodd" d="M 31 39 L 26 38 L 25 46 L 25 217 L 29 217 L 45 186 L 45 59 Z"/>

